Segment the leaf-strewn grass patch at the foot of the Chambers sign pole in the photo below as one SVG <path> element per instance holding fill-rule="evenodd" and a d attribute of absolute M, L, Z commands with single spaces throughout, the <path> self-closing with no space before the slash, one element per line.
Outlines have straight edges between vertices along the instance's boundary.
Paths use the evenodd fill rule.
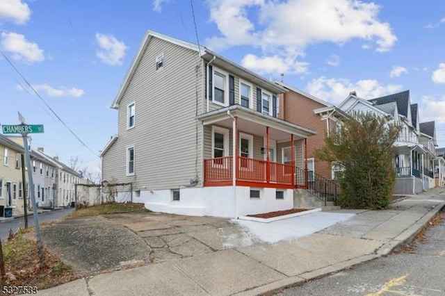
<path fill-rule="evenodd" d="M 4 286 L 36 286 L 39 290 L 58 286 L 80 276 L 56 254 L 43 247 L 44 264 L 40 265 L 37 242 L 28 237 L 34 228 L 20 230 L 2 244 L 6 278 Z"/>

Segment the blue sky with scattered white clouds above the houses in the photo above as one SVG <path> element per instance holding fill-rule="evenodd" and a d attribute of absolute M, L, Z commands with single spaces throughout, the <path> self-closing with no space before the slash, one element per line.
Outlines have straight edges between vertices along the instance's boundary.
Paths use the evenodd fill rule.
<path fill-rule="evenodd" d="M 111 103 L 147 30 L 209 47 L 338 105 L 410 90 L 445 147 L 445 1 L 0 0 L 0 124 L 93 176 L 118 133 Z M 282 76 L 281 74 L 284 74 Z"/>

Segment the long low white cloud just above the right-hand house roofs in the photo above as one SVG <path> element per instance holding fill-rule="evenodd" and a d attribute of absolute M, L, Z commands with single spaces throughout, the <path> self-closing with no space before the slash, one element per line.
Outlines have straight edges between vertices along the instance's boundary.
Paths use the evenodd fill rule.
<path fill-rule="evenodd" d="M 401 89 L 402 85 L 382 85 L 375 79 L 364 79 L 353 83 L 348 79 L 327 79 L 325 76 L 312 79 L 307 84 L 309 94 L 336 105 L 346 99 L 352 91 L 357 92 L 358 97 L 372 99 L 398 92 Z"/>

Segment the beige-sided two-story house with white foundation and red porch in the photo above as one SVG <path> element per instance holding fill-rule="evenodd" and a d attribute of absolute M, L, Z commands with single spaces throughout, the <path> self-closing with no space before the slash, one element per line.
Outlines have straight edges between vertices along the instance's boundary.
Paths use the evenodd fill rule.
<path fill-rule="evenodd" d="M 133 202 L 152 211 L 293 208 L 297 147 L 316 133 L 277 116 L 283 92 L 210 49 L 148 31 L 112 104 L 118 134 L 102 151 L 102 180 L 132 183 Z"/>

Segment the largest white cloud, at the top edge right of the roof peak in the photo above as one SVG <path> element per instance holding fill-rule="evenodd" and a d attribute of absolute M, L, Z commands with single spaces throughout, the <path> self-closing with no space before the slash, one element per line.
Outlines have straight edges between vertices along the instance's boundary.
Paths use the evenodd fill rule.
<path fill-rule="evenodd" d="M 380 6 L 360 0 L 214 0 L 209 5 L 220 35 L 206 43 L 216 50 L 249 45 L 283 59 L 320 42 L 358 38 L 388 51 L 397 40 L 391 26 L 378 19 Z"/>

